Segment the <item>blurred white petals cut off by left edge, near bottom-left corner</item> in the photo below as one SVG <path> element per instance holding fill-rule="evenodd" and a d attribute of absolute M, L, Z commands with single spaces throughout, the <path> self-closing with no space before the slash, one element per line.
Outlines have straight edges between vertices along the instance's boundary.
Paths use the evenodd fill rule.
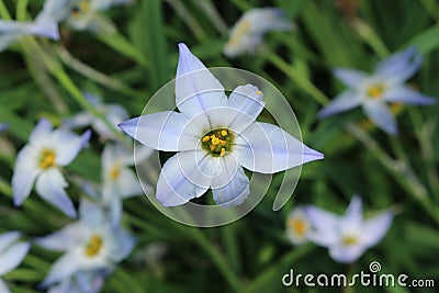
<path fill-rule="evenodd" d="M 19 243 L 20 233 L 8 232 L 0 235 L 0 277 L 15 269 L 27 255 L 31 247 Z M 0 292 L 10 293 L 7 284 L 0 279 Z"/>

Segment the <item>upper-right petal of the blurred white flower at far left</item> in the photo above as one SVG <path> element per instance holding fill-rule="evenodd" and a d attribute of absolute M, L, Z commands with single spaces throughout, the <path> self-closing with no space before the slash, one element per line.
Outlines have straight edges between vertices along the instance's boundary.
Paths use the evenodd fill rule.
<path fill-rule="evenodd" d="M 56 164 L 58 166 L 69 165 L 87 146 L 90 140 L 91 132 L 87 131 L 78 136 L 66 128 L 54 132 L 53 137 L 56 145 Z"/>

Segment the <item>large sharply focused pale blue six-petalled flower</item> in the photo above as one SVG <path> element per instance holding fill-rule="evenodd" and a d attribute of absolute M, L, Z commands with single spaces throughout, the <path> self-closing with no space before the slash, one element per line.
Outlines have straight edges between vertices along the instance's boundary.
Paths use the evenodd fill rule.
<path fill-rule="evenodd" d="M 280 127 L 256 122 L 264 106 L 257 87 L 237 87 L 227 98 L 200 59 L 184 44 L 179 48 L 176 104 L 180 112 L 120 124 L 146 146 L 178 151 L 165 162 L 158 179 L 156 196 L 162 205 L 184 204 L 209 188 L 217 204 L 237 205 L 249 194 L 243 167 L 274 173 L 323 158 Z"/>

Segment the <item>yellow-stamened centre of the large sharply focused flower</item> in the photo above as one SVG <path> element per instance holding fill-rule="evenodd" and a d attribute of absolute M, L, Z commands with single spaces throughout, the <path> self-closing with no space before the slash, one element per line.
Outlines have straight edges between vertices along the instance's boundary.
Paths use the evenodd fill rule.
<path fill-rule="evenodd" d="M 223 157 L 232 151 L 235 136 L 229 129 L 217 128 L 209 132 L 201 139 L 201 146 L 214 157 Z"/>

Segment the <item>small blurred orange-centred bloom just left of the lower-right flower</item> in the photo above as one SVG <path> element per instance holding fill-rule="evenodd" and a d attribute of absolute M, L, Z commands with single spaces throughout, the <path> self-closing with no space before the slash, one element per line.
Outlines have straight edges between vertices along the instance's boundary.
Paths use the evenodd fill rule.
<path fill-rule="evenodd" d="M 286 217 L 286 236 L 293 245 L 308 241 L 311 224 L 303 207 L 296 207 Z"/>

